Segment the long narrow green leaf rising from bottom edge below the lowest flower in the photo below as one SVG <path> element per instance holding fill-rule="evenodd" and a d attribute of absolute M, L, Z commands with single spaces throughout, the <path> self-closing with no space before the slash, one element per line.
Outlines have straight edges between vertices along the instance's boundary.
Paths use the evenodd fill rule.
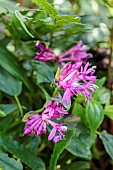
<path fill-rule="evenodd" d="M 55 144 L 53 154 L 52 154 L 51 160 L 50 160 L 50 169 L 51 170 L 56 170 L 57 160 L 58 160 L 60 154 L 63 152 L 63 150 L 70 143 L 73 133 L 74 133 L 73 129 L 66 132 L 65 133 L 66 140 L 59 141 L 57 144 Z"/>

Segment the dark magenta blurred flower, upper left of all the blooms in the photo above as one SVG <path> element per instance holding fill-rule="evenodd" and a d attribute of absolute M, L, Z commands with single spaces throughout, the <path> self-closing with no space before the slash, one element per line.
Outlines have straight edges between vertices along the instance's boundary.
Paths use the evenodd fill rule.
<path fill-rule="evenodd" d="M 53 52 L 51 48 L 46 48 L 46 45 L 41 42 L 37 42 L 36 48 L 38 48 L 38 52 L 35 56 L 36 60 L 45 62 L 45 61 L 50 61 L 50 60 L 57 60 L 57 56 Z"/>

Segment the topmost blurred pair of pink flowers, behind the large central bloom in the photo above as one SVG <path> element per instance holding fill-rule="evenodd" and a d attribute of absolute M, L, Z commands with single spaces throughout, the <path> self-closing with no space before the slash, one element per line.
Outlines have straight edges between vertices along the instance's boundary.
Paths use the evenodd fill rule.
<path fill-rule="evenodd" d="M 59 62 L 61 65 L 65 65 L 66 62 L 80 62 L 84 63 L 88 58 L 92 58 L 92 54 L 87 53 L 86 49 L 82 46 L 82 41 L 79 41 L 77 45 L 70 48 L 68 51 L 62 52 L 60 55 L 56 56 L 51 48 L 46 48 L 46 45 L 41 42 L 37 42 L 36 48 L 39 50 L 35 56 L 36 60 L 46 62 L 54 60 Z"/>

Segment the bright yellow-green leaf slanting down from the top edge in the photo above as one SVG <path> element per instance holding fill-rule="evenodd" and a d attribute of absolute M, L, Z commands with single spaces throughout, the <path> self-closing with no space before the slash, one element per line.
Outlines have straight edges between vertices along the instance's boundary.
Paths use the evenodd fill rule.
<path fill-rule="evenodd" d="M 32 0 L 32 2 L 46 11 L 51 16 L 51 18 L 55 20 L 55 17 L 58 15 L 58 13 L 46 0 Z"/>

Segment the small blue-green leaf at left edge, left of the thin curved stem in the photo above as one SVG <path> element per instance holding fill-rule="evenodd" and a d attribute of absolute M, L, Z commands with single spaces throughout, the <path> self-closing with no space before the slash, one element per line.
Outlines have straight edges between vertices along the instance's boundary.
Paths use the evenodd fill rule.
<path fill-rule="evenodd" d="M 0 104 L 0 110 L 2 110 L 5 115 L 8 115 L 18 109 L 16 104 Z"/>

